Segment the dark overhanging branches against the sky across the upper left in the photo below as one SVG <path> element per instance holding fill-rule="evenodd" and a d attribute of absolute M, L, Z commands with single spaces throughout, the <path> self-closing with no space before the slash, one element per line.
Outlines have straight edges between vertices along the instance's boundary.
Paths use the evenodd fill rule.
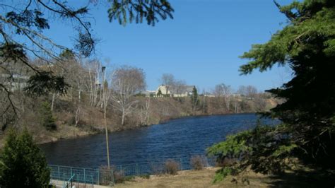
<path fill-rule="evenodd" d="M 0 71 L 6 69 L 7 62 L 14 61 L 30 69 L 34 74 L 27 82 L 25 90 L 34 95 L 48 95 L 49 93 L 64 94 L 67 90 L 64 78 L 55 76 L 52 71 L 41 70 L 34 66 L 30 59 L 39 59 L 52 66 L 55 61 L 62 61 L 59 52 L 69 49 L 52 40 L 44 30 L 50 29 L 52 20 L 58 23 L 66 23 L 74 28 L 74 47 L 76 54 L 89 57 L 94 52 L 96 40 L 92 35 L 90 21 L 94 20 L 88 16 L 89 10 L 97 4 L 87 1 L 84 4 L 69 4 L 67 1 L 4 1 L 0 8 Z M 120 24 L 126 25 L 136 20 L 143 20 L 149 25 L 155 25 L 158 20 L 173 18 L 174 11 L 168 1 L 108 1 L 108 18 L 110 22 L 118 20 Z M 135 19 L 136 18 L 136 19 Z M 70 23 L 70 24 L 69 24 Z M 63 33 L 64 34 L 64 33 Z M 50 67 L 49 67 L 50 68 Z M 11 71 L 11 74 L 13 71 Z M 15 114 L 18 107 L 13 104 L 13 92 L 10 88 L 0 83 L 1 92 L 10 101 Z M 72 90 L 72 88 L 70 89 Z M 70 91 L 71 93 L 71 91 Z M 78 89 L 79 96 L 81 89 Z M 72 95 L 71 95 L 72 96 Z M 56 97 L 56 95 L 54 95 Z M 20 100 L 20 99 L 19 99 Z"/>

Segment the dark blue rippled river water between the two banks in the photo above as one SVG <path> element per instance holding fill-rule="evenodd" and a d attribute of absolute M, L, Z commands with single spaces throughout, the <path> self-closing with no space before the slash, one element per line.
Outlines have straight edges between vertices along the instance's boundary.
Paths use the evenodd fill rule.
<path fill-rule="evenodd" d="M 109 134 L 112 165 L 146 163 L 163 158 L 204 155 L 206 148 L 228 134 L 251 129 L 255 114 L 228 114 L 173 119 L 151 127 Z M 278 121 L 261 119 L 265 124 Z M 105 134 L 66 139 L 41 145 L 50 165 L 98 168 L 107 165 Z"/>

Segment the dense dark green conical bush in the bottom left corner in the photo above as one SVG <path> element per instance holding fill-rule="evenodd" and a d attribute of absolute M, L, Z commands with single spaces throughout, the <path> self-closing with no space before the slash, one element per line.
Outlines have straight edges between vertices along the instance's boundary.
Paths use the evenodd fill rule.
<path fill-rule="evenodd" d="M 0 187 L 48 187 L 47 160 L 27 130 L 9 131 L 0 161 Z"/>

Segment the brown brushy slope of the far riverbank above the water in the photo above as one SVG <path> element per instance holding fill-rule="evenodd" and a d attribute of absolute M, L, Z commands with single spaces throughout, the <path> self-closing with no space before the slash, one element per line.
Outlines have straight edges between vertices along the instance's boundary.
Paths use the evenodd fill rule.
<path fill-rule="evenodd" d="M 192 110 L 189 98 L 145 98 L 136 97 L 138 102 L 134 110 L 127 115 L 125 124 L 121 125 L 121 116 L 112 105 L 107 108 L 107 129 L 109 132 L 123 131 L 129 129 L 138 129 L 148 127 L 153 124 L 160 124 L 182 117 L 209 116 L 218 114 L 233 114 L 235 111 L 227 110 L 221 98 L 207 98 L 205 105 L 199 105 Z M 259 112 L 269 110 L 278 102 L 272 98 L 264 98 L 262 107 L 257 107 L 257 101 L 247 98 L 240 98 L 241 107 L 237 112 Z M 53 107 L 53 119 L 56 129 L 46 129 L 40 123 L 40 102 L 45 99 L 27 100 L 29 110 L 25 110 L 21 115 L 16 126 L 17 129 L 28 129 L 33 134 L 37 143 L 49 143 L 62 139 L 74 139 L 82 136 L 90 136 L 105 132 L 105 121 L 103 111 L 100 107 L 92 107 L 82 103 L 80 105 L 66 98 L 56 98 Z M 148 105 L 148 108 L 143 107 Z M 199 102 L 201 104 L 201 102 Z M 243 104 L 243 105 L 242 105 Z M 0 131 L 0 141 L 6 131 Z M 0 144 L 1 147 L 1 144 Z"/>

